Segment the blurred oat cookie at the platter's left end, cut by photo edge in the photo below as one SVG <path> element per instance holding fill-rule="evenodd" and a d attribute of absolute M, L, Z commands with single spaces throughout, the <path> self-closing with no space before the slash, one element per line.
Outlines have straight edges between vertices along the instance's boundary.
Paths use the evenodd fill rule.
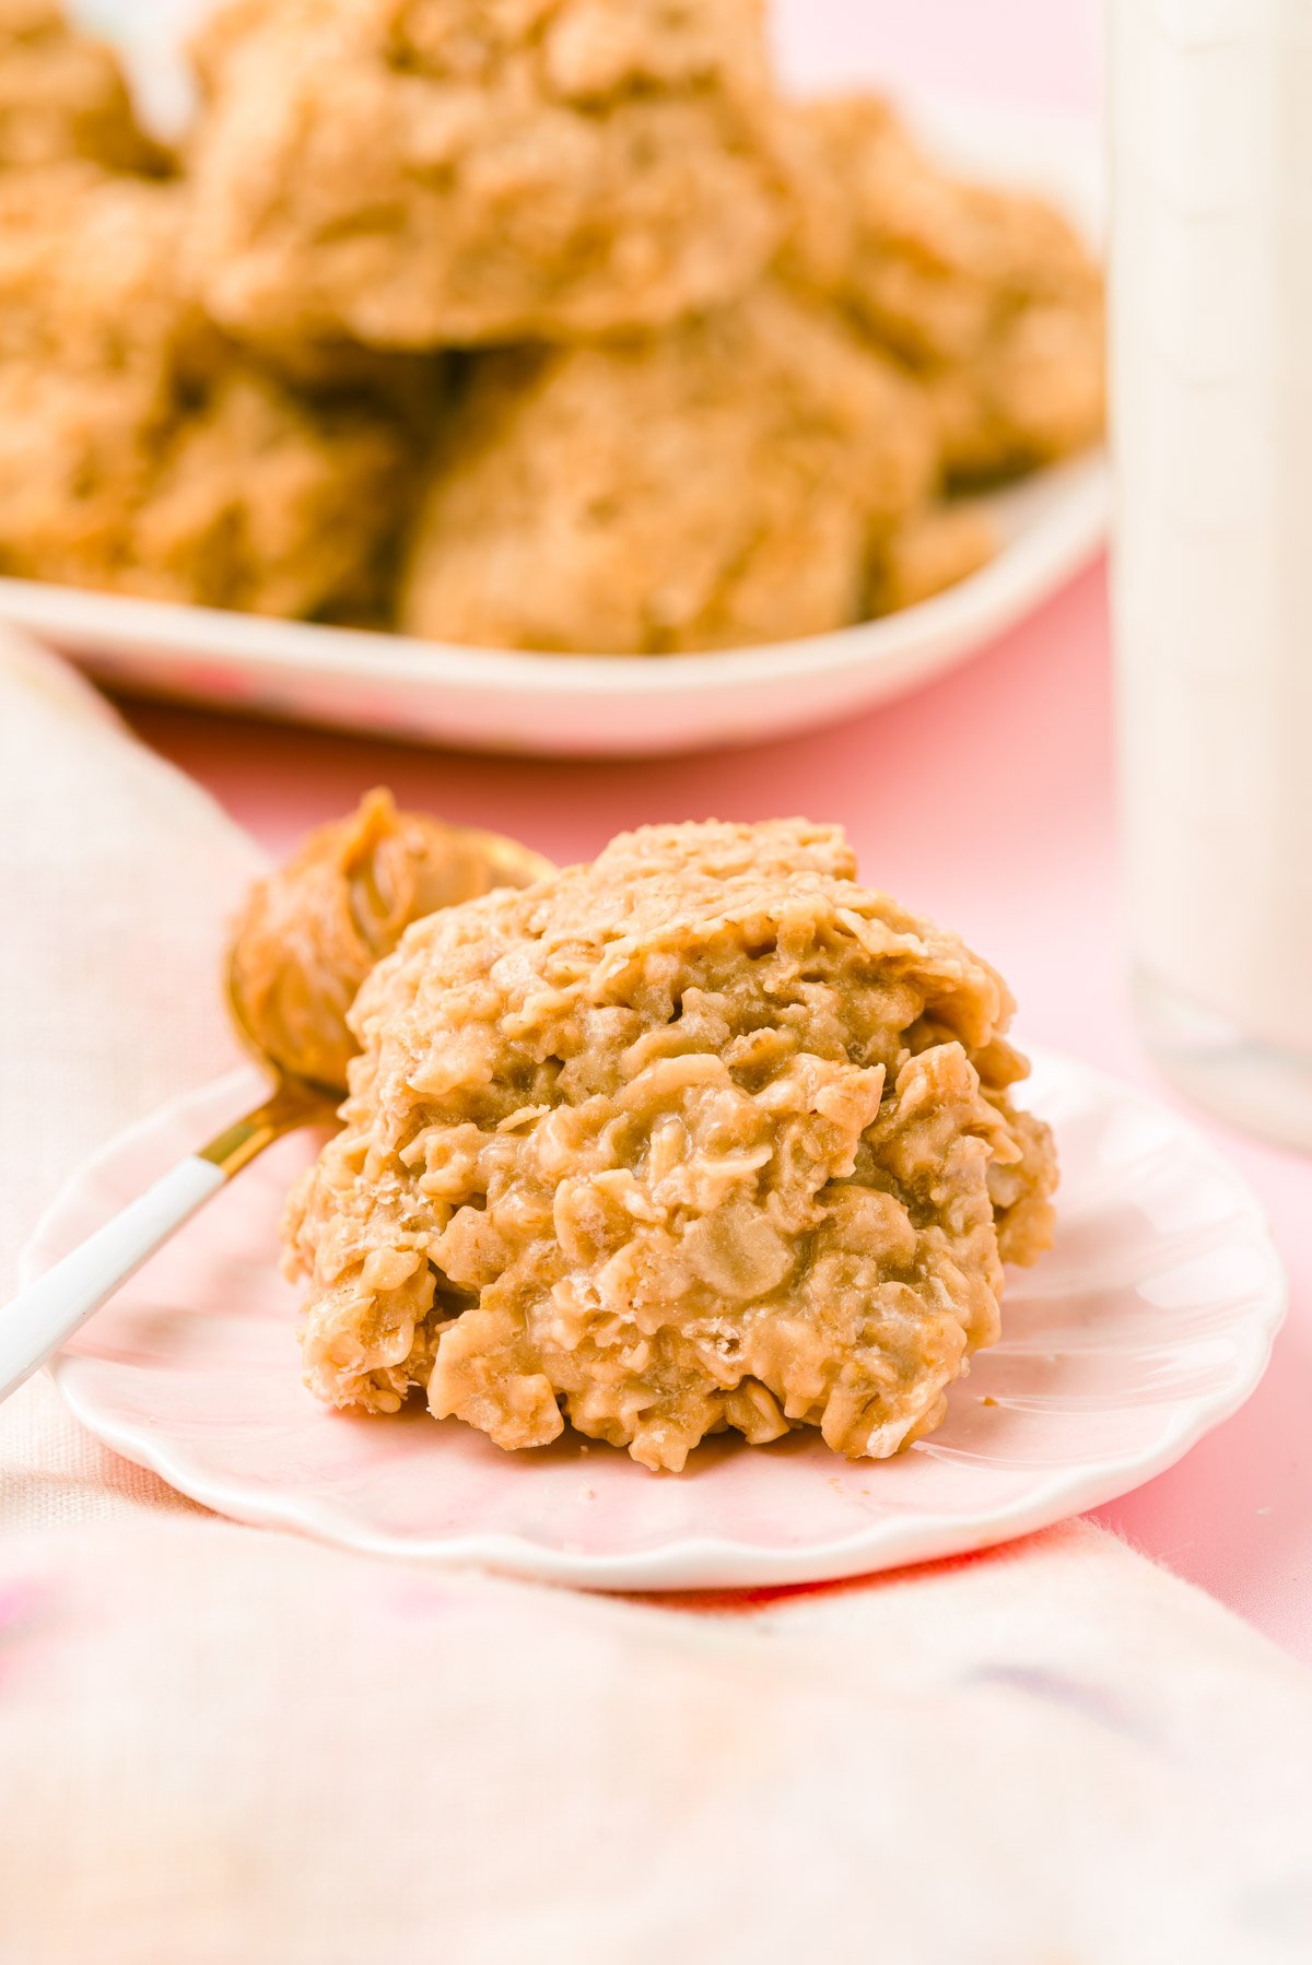
<path fill-rule="evenodd" d="M 181 275 L 185 220 L 179 183 L 0 173 L 0 572 L 380 609 L 407 446 L 216 336 Z"/>

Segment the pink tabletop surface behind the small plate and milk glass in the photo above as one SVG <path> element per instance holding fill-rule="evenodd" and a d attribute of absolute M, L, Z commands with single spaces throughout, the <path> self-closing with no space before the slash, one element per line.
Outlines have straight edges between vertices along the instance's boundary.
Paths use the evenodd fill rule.
<path fill-rule="evenodd" d="M 808 81 L 877 67 L 956 94 L 1094 108 L 1096 0 L 801 0 L 783 8 Z M 535 764 L 132 707 L 138 731 L 268 847 L 340 814 L 370 784 L 586 857 L 645 819 L 805 812 L 840 819 L 864 872 L 950 922 L 1011 979 L 1019 1036 L 1170 1093 L 1125 996 L 1111 796 L 1105 578 L 1098 568 L 891 709 L 795 743 L 653 764 Z M 1170 1474 L 1100 1519 L 1312 1660 L 1312 1163 L 1212 1128 L 1263 1197 L 1292 1311 L 1251 1403 Z"/>

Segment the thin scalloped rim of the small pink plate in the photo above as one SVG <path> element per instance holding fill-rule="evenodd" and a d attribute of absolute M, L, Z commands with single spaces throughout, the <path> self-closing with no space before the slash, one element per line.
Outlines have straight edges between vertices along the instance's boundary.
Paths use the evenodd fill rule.
<path fill-rule="evenodd" d="M 1288 1313 L 1288 1275 L 1271 1234 L 1267 1212 L 1253 1187 L 1231 1161 L 1198 1128 L 1172 1106 L 1151 1093 L 1088 1065 L 1070 1053 L 1033 1045 L 1037 1067 L 1074 1073 L 1103 1096 L 1164 1118 L 1178 1140 L 1186 1142 L 1200 1165 L 1220 1173 L 1233 1197 L 1231 1230 L 1247 1232 L 1249 1246 L 1267 1258 L 1267 1285 L 1261 1303 L 1247 1319 L 1247 1344 L 1233 1374 L 1212 1391 L 1194 1393 L 1176 1413 L 1151 1448 L 1133 1448 L 1064 1468 L 1015 1501 L 966 1513 L 954 1509 L 940 1515 L 915 1515 L 871 1521 L 852 1535 L 805 1546 L 775 1546 L 744 1543 L 720 1535 L 681 1535 L 665 1543 L 626 1554 L 586 1554 L 551 1546 L 527 1535 L 506 1531 L 476 1531 L 450 1537 L 407 1539 L 372 1531 L 342 1521 L 321 1501 L 268 1488 L 252 1488 L 228 1476 L 197 1476 L 183 1452 L 171 1442 L 149 1434 L 149 1427 L 104 1417 L 94 1401 L 77 1387 L 77 1354 L 61 1354 L 47 1372 L 73 1419 L 104 1446 L 122 1458 L 157 1474 L 177 1493 L 252 1527 L 283 1529 L 372 1554 L 388 1560 L 407 1560 L 429 1568 L 482 1566 L 529 1582 L 565 1584 L 600 1592 L 671 1592 L 671 1590 L 734 1590 L 787 1588 L 793 1584 L 838 1582 L 860 1574 L 879 1574 L 891 1568 L 934 1562 L 946 1556 L 974 1554 L 1021 1535 L 1050 1527 L 1090 1507 L 1100 1507 L 1133 1491 L 1174 1466 L 1206 1432 L 1229 1419 L 1261 1381 L 1279 1330 Z M 20 1254 L 20 1277 L 31 1281 L 43 1269 L 43 1244 L 55 1230 L 69 1195 L 94 1173 L 112 1163 L 140 1136 L 151 1136 L 163 1122 L 191 1104 L 214 1098 L 220 1087 L 232 1085 L 234 1100 L 240 1089 L 264 1083 L 252 1065 L 210 1079 L 201 1087 L 165 1100 L 153 1112 L 122 1128 L 94 1153 L 81 1161 L 61 1183 L 57 1195 L 41 1212 Z"/>

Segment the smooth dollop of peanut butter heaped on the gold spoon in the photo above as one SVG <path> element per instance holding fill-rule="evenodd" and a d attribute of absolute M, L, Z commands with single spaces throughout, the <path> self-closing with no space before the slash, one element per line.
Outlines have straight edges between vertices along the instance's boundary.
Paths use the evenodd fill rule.
<path fill-rule="evenodd" d="M 543 872 L 549 863 L 527 847 L 397 812 L 389 792 L 368 792 L 252 888 L 230 975 L 248 1036 L 287 1071 L 344 1089 L 356 1053 L 346 1012 L 405 927 Z"/>

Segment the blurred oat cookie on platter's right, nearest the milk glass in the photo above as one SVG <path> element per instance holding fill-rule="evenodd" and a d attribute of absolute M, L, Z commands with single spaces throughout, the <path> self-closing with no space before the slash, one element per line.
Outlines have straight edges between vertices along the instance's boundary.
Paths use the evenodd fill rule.
<path fill-rule="evenodd" d="M 1031 470 L 1103 426 L 1103 293 L 1043 198 L 944 171 L 877 96 L 789 120 L 787 273 L 924 383 L 948 483 Z"/>

